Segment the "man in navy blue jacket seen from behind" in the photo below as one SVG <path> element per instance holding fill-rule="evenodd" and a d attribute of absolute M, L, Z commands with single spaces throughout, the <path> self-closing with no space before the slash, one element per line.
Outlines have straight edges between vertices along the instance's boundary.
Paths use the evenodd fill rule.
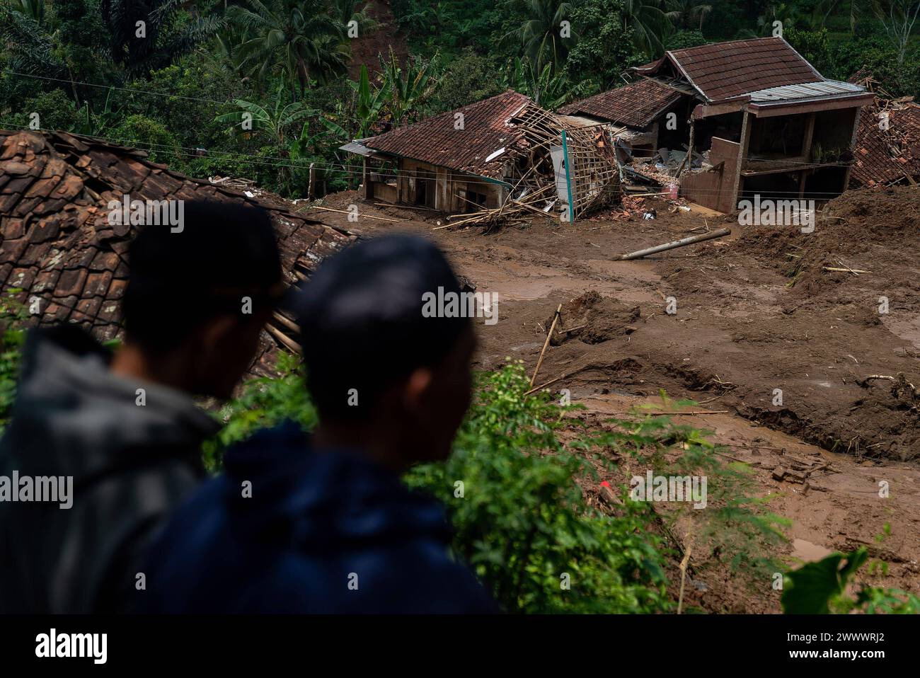
<path fill-rule="evenodd" d="M 316 271 L 299 316 L 320 423 L 227 451 L 224 474 L 152 548 L 147 609 L 496 611 L 450 557 L 441 505 L 400 480 L 450 454 L 469 406 L 472 326 L 458 305 L 423 312 L 439 293 L 462 298 L 441 252 L 415 237 L 363 241 Z"/>

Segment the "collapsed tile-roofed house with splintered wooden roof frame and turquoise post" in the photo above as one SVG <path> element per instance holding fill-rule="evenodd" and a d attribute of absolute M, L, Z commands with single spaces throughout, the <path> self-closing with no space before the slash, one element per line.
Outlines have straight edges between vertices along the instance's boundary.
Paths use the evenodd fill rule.
<path fill-rule="evenodd" d="M 467 223 L 574 218 L 618 186 L 602 125 L 570 126 L 513 90 L 341 150 L 364 159 L 365 200 L 467 214 Z"/>

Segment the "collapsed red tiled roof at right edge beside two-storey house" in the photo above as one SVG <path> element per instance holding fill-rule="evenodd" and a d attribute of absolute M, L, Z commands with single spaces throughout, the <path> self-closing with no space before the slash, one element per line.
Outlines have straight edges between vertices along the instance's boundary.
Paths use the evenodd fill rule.
<path fill-rule="evenodd" d="M 852 186 L 878 186 L 906 177 L 920 179 L 920 106 L 914 103 L 888 111 L 889 129 L 879 127 L 878 106 L 859 118 Z"/>

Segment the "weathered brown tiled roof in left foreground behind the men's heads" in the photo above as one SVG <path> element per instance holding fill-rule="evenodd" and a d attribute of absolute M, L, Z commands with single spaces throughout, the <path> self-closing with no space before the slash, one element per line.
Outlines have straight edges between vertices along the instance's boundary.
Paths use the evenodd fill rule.
<path fill-rule="evenodd" d="M 138 226 L 111 225 L 108 204 L 195 200 L 259 204 L 269 210 L 288 282 L 353 236 L 276 204 L 186 177 L 144 151 L 63 132 L 0 131 L 0 286 L 40 297 L 39 324 L 72 322 L 97 339 L 119 331 L 125 255 Z"/>

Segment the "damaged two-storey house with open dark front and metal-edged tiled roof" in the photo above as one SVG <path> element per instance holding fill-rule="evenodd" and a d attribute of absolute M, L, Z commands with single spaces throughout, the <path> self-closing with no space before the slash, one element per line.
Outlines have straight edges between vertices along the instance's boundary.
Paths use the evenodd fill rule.
<path fill-rule="evenodd" d="M 678 169 L 688 200 L 728 213 L 754 194 L 825 200 L 846 189 L 859 109 L 873 96 L 823 77 L 786 40 L 675 50 L 633 70 L 689 103 L 679 127 L 702 163 Z"/>

